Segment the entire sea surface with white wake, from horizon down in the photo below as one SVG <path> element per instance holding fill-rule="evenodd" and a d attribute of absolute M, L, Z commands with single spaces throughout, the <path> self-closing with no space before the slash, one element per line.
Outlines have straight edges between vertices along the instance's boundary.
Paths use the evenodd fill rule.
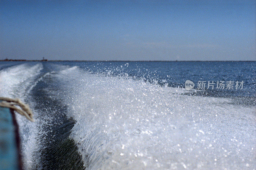
<path fill-rule="evenodd" d="M 35 115 L 25 169 L 254 169 L 255 84 L 256 62 L 0 63 L 0 96 Z"/>

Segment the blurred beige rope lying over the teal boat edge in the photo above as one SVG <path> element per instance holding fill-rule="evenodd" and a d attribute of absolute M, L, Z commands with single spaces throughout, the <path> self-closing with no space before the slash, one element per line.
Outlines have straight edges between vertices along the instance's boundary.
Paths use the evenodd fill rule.
<path fill-rule="evenodd" d="M 2 102 L 0 102 L 0 106 L 1 107 L 11 108 L 11 109 L 15 110 L 16 112 L 18 112 L 20 115 L 25 116 L 31 122 L 34 122 L 33 113 L 31 111 L 31 109 L 28 107 L 28 105 L 22 103 L 20 101 L 20 99 L 18 99 L 18 98 L 12 99 L 12 98 L 7 98 L 7 97 L 0 97 L 0 100 L 2 100 Z M 14 105 L 17 105 L 20 108 L 14 106 Z"/>

